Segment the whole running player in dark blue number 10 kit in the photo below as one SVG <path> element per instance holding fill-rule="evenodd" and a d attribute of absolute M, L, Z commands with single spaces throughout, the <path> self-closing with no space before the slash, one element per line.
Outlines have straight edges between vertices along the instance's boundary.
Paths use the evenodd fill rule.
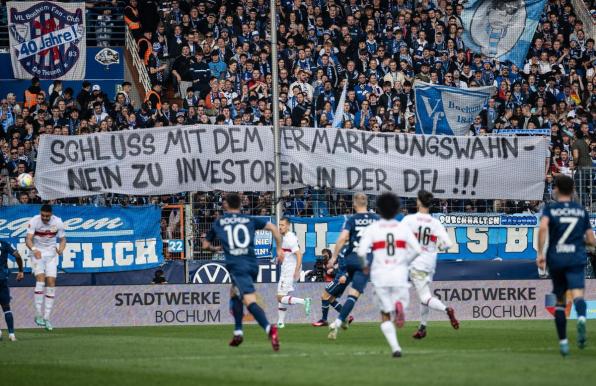
<path fill-rule="evenodd" d="M 255 256 L 255 231 L 266 229 L 271 232 L 277 245 L 277 256 L 283 256 L 281 236 L 275 225 L 259 217 L 240 213 L 241 200 L 237 193 L 228 193 L 224 198 L 224 215 L 213 222 L 212 228 L 203 240 L 203 249 L 218 251 L 213 245 L 216 239 L 223 246 L 226 268 L 232 279 L 230 308 L 234 316 L 234 336 L 230 346 L 239 346 L 244 340 L 242 331 L 243 303 L 259 325 L 265 330 L 274 351 L 279 350 L 277 327 L 271 325 L 263 309 L 257 304 L 254 281 L 259 273 Z"/>

